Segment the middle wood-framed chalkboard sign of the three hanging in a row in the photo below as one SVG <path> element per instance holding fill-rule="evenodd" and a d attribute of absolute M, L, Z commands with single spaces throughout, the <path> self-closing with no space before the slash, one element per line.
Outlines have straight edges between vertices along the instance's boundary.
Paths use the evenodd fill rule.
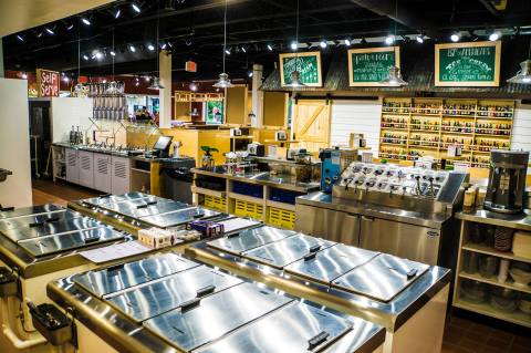
<path fill-rule="evenodd" d="M 351 86 L 381 86 L 389 76 L 389 66 L 400 68 L 400 48 L 364 48 L 348 50 Z"/>

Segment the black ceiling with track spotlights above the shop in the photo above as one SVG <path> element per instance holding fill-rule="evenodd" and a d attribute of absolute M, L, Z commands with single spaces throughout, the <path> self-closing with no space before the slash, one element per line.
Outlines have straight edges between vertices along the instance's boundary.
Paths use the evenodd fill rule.
<path fill-rule="evenodd" d="M 504 0 L 396 1 L 300 0 L 300 42 L 384 37 L 395 30 L 398 34 L 421 32 L 435 40 L 447 41 L 455 30 L 473 33 L 475 30 L 512 28 L 524 32 L 525 27 L 531 25 L 529 0 L 508 0 L 504 10 L 494 8 Z M 77 39 L 81 38 L 82 58 L 93 56 L 94 51 L 103 54 L 101 60 L 81 59 L 81 73 L 110 74 L 114 33 L 116 73 L 156 71 L 156 53 L 147 45 L 156 42 L 158 12 L 159 44 L 171 44 L 174 80 L 217 76 L 222 56 L 225 1 L 137 1 L 140 13 L 133 10 L 132 3 L 115 1 L 81 15 L 4 38 L 6 69 L 31 71 L 45 68 L 76 73 Z M 118 9 L 121 15 L 116 19 Z M 289 44 L 295 39 L 295 9 L 296 0 L 229 0 L 227 44 L 231 54 L 227 56 L 227 71 L 232 77 L 244 76 L 252 63 L 263 64 L 266 73 L 273 69 L 278 53 L 289 51 Z M 83 24 L 82 17 L 92 24 Z M 268 44 L 273 45 L 273 51 L 267 49 Z M 128 45 L 135 45 L 136 52 L 132 53 Z M 326 49 L 336 50 L 343 48 L 331 45 Z M 198 73 L 183 71 L 189 59 L 198 63 Z"/>

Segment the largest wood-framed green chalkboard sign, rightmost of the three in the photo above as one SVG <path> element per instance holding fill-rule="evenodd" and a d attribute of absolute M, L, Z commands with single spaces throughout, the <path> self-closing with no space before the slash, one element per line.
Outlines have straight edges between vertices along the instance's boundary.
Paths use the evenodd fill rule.
<path fill-rule="evenodd" d="M 435 45 L 436 86 L 498 86 L 501 42 Z"/>

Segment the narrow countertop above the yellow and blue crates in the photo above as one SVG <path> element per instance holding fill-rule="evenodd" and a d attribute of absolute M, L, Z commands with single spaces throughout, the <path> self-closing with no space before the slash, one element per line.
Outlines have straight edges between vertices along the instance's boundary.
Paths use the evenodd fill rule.
<path fill-rule="evenodd" d="M 192 168 L 191 173 L 199 175 L 225 178 L 249 184 L 267 185 L 270 187 L 285 189 L 298 193 L 312 193 L 319 190 L 319 183 L 296 183 L 295 178 L 290 175 L 271 175 L 269 172 L 248 173 L 244 175 L 232 175 L 222 172 L 205 170 L 202 168 Z"/>

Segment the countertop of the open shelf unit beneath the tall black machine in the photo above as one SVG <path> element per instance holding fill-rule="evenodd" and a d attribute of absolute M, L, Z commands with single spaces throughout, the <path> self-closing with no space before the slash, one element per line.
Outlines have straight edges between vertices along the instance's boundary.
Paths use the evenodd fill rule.
<path fill-rule="evenodd" d="M 456 214 L 456 218 L 531 231 L 531 210 L 529 209 L 525 209 L 524 212 L 518 215 L 506 215 L 478 209 L 473 212 L 458 212 Z"/>

